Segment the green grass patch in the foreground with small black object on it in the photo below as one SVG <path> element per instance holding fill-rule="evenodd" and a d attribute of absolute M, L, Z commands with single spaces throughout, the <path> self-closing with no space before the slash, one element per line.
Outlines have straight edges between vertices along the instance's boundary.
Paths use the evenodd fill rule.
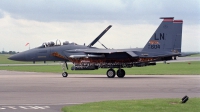
<path fill-rule="evenodd" d="M 200 98 L 123 100 L 86 103 L 62 108 L 63 112 L 199 112 Z"/>

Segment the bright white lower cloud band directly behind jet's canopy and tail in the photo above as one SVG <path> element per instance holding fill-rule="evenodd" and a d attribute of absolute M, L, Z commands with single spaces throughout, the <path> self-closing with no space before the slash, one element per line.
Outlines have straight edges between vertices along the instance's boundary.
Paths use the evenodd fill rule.
<path fill-rule="evenodd" d="M 27 42 L 33 48 L 52 39 L 88 45 L 110 24 L 113 27 L 100 40 L 105 46 L 108 48 L 143 47 L 161 22 L 160 19 L 154 20 L 156 25 L 148 23 L 123 25 L 113 21 L 38 22 L 14 19 L 8 13 L 4 15 L 4 18 L 0 19 L 0 49 L 4 48 L 6 51 L 24 51 L 28 49 L 25 46 Z M 183 51 L 200 51 L 199 24 L 185 23 L 183 24 Z M 102 47 L 98 43 L 95 46 Z"/>

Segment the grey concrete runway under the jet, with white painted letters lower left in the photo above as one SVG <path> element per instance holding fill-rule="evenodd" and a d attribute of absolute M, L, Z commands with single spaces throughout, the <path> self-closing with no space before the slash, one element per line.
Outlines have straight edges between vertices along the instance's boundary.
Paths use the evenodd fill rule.
<path fill-rule="evenodd" d="M 200 97 L 199 75 L 69 75 L 0 70 L 0 112 L 59 112 L 105 100 Z"/>

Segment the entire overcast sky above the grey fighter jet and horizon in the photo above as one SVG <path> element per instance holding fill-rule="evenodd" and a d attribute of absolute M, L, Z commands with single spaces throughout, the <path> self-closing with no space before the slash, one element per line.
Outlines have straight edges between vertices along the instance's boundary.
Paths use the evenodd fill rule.
<path fill-rule="evenodd" d="M 182 19 L 182 51 L 200 51 L 199 0 L 1 0 L 0 51 L 52 39 L 89 44 L 108 25 L 100 40 L 106 47 L 144 47 L 160 17 Z"/>

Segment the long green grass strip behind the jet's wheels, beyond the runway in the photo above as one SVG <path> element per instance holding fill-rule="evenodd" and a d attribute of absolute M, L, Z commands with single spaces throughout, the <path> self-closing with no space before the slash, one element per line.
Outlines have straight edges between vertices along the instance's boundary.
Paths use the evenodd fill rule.
<path fill-rule="evenodd" d="M 106 74 L 108 69 L 98 70 L 67 70 L 69 74 Z M 0 66 L 0 70 L 28 71 L 28 72 L 53 72 L 61 73 L 60 65 L 30 65 L 30 66 Z M 115 69 L 117 70 L 117 69 Z M 132 75 L 200 75 L 200 62 L 173 62 L 170 64 L 158 63 L 156 66 L 124 68 L 126 74 Z"/>

